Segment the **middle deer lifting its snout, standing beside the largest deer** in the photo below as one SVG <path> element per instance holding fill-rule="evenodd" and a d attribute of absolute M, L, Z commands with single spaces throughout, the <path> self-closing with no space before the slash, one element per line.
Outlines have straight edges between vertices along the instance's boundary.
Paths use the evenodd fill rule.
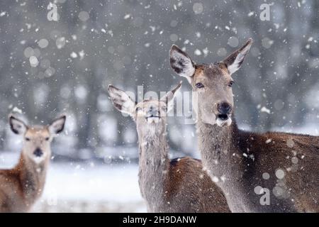
<path fill-rule="evenodd" d="M 169 160 L 166 114 L 174 94 L 135 104 L 128 94 L 109 86 L 116 109 L 132 116 L 139 142 L 139 185 L 149 212 L 229 212 L 223 193 L 211 181 L 201 161 L 191 157 Z"/>

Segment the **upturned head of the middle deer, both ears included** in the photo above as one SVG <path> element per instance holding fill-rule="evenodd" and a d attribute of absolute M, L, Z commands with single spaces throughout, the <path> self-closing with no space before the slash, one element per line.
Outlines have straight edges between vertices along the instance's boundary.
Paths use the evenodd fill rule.
<path fill-rule="evenodd" d="M 181 87 L 181 82 L 165 94 L 162 99 L 145 99 L 138 104 L 121 89 L 108 86 L 108 94 L 113 105 L 124 114 L 130 115 L 136 122 L 139 135 L 155 135 L 166 131 L 167 113 L 174 104 L 174 94 Z"/>

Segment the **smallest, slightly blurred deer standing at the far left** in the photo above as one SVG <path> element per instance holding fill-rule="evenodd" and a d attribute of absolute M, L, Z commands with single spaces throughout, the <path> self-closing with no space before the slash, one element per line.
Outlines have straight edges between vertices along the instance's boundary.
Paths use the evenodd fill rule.
<path fill-rule="evenodd" d="M 65 116 L 49 126 L 27 126 L 10 116 L 13 133 L 23 135 L 23 148 L 18 165 L 12 170 L 0 170 L 0 212 L 27 212 L 40 197 L 50 162 L 50 144 L 62 132 Z"/>

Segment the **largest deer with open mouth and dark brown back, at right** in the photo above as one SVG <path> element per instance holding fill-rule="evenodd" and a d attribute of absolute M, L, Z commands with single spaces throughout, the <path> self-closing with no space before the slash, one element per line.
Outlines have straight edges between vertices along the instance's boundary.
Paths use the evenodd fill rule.
<path fill-rule="evenodd" d="M 233 79 L 249 39 L 222 62 L 196 65 L 176 45 L 175 72 L 198 95 L 198 148 L 203 166 L 235 212 L 319 212 L 319 137 L 241 131 L 233 111 Z"/>

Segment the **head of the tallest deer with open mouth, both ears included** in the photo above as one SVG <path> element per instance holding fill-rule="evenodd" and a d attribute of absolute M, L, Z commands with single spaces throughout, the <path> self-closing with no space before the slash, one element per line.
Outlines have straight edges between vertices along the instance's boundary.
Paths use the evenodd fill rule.
<path fill-rule="evenodd" d="M 186 77 L 198 95 L 198 116 L 203 123 L 230 126 L 233 114 L 232 74 L 240 69 L 252 45 L 252 38 L 225 60 L 210 65 L 196 65 L 186 52 L 173 45 L 170 64 L 181 77 Z"/>

